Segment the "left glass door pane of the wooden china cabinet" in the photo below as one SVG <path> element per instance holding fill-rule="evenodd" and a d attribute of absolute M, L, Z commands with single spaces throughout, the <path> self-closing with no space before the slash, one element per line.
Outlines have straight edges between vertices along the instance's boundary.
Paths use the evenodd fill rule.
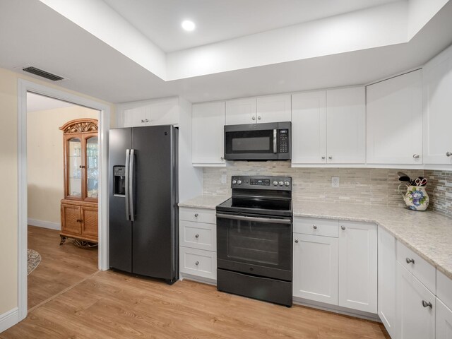
<path fill-rule="evenodd" d="M 82 196 L 82 156 L 81 140 L 72 138 L 68 141 L 69 159 L 69 196 Z"/>

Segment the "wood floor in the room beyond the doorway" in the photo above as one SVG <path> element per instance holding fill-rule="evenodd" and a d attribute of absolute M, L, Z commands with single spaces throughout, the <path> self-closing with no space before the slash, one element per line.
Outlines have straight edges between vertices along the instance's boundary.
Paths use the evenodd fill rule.
<path fill-rule="evenodd" d="M 28 226 L 28 248 L 41 263 L 28 275 L 28 309 L 97 271 L 97 248 L 79 249 L 67 239 L 59 246 L 59 231 Z"/>

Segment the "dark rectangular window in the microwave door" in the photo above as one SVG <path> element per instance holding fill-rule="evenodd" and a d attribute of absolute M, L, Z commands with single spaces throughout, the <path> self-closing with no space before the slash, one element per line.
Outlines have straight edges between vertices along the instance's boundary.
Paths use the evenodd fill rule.
<path fill-rule="evenodd" d="M 273 153 L 273 129 L 226 132 L 226 153 Z"/>

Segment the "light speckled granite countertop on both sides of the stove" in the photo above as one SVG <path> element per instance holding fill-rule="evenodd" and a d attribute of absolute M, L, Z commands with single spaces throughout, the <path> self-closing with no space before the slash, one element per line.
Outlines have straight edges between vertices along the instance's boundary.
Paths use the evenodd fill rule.
<path fill-rule="evenodd" d="M 197 196 L 179 207 L 210 208 L 230 196 Z M 452 219 L 432 211 L 351 203 L 293 201 L 294 216 L 374 222 L 452 279 Z"/>

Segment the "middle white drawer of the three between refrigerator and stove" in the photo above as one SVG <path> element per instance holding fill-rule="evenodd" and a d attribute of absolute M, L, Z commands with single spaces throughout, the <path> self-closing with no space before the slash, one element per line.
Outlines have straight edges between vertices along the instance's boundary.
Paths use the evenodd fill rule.
<path fill-rule="evenodd" d="M 181 220 L 179 222 L 181 246 L 194 249 L 217 250 L 217 227 L 213 224 Z"/>

